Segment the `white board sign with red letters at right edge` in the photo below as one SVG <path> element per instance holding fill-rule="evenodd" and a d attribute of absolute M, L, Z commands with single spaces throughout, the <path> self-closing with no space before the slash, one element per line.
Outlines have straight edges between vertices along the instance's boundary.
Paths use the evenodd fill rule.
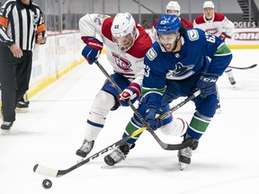
<path fill-rule="evenodd" d="M 259 28 L 235 29 L 231 39 L 226 39 L 228 45 L 259 45 Z"/>

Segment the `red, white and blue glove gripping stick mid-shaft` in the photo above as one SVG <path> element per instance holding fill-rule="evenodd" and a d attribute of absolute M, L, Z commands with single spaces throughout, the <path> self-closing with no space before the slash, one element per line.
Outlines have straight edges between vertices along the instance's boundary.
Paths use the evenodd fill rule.
<path fill-rule="evenodd" d="M 137 83 L 131 83 L 122 93 L 118 95 L 118 101 L 121 106 L 129 106 L 128 101 L 134 103 L 140 96 L 140 86 Z"/>

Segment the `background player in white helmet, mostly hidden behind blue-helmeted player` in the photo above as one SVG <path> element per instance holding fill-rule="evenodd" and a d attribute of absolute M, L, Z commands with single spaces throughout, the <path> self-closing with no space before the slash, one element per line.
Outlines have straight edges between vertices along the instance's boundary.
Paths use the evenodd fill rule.
<path fill-rule="evenodd" d="M 175 14 L 180 19 L 180 21 L 183 23 L 184 28 L 193 28 L 192 22 L 190 22 L 190 21 L 188 21 L 184 18 L 179 17 L 180 14 L 181 14 L 181 6 L 180 6 L 180 4 L 178 4 L 178 2 L 170 1 L 166 5 L 165 13 L 166 14 Z M 153 27 L 151 29 L 151 36 L 152 36 L 153 41 L 156 40 L 156 25 L 157 25 L 158 21 L 159 21 L 159 18 L 156 19 L 156 21 L 154 22 Z"/>

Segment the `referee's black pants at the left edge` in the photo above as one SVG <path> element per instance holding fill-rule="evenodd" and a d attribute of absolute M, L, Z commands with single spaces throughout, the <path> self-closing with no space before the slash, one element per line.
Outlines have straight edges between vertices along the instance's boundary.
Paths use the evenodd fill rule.
<path fill-rule="evenodd" d="M 17 101 L 29 89 L 31 78 L 31 50 L 22 50 L 21 58 L 13 57 L 10 48 L 0 47 L 0 83 L 4 121 L 15 120 Z"/>

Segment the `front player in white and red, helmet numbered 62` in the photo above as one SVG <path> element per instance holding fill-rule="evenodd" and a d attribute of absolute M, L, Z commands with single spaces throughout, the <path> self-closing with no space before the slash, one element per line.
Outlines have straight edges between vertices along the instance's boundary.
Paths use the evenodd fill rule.
<path fill-rule="evenodd" d="M 140 95 L 143 79 L 144 57 L 152 41 L 145 29 L 135 22 L 130 13 L 109 15 L 87 13 L 79 21 L 79 30 L 86 46 L 82 55 L 92 65 L 100 56 L 103 44 L 106 46 L 106 57 L 113 67 L 112 79 L 121 87 L 119 93 L 106 81 L 95 96 L 86 121 L 85 140 L 76 151 L 80 157 L 91 152 L 94 140 L 104 127 L 105 119 L 110 110 L 117 110 L 120 103 L 132 103 Z M 102 40 L 96 38 L 96 34 Z"/>

